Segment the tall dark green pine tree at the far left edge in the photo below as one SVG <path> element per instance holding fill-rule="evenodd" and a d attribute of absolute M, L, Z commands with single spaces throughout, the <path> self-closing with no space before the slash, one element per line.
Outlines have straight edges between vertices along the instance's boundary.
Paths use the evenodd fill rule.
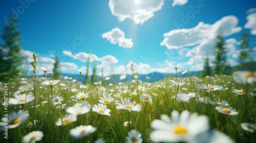
<path fill-rule="evenodd" d="M 20 65 L 22 60 L 20 51 L 22 47 L 19 44 L 20 32 L 17 29 L 17 19 L 13 18 L 11 13 L 8 19 L 9 26 L 4 27 L 2 38 L 3 46 L 0 46 L 0 79 L 9 80 L 17 78 L 21 72 Z"/>

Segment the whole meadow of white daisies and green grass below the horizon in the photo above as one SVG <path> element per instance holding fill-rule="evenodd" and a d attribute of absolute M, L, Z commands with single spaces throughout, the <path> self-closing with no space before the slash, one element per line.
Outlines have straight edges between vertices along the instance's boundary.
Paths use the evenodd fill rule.
<path fill-rule="evenodd" d="M 94 84 L 80 80 L 45 75 L 2 82 L 0 140 L 256 141 L 256 73 L 201 78 L 187 71 L 158 82 L 136 75 L 102 76 Z"/>

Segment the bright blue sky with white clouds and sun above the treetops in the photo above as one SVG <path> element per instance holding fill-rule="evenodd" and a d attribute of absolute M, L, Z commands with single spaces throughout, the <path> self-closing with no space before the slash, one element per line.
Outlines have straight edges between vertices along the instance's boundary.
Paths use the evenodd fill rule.
<path fill-rule="evenodd" d="M 27 61 L 36 53 L 39 67 L 53 68 L 58 54 L 62 73 L 86 69 L 90 53 L 90 73 L 96 61 L 105 76 L 125 74 L 125 68 L 131 73 L 131 64 L 139 74 L 174 73 L 173 65 L 180 65 L 178 71 L 187 65 L 191 71 L 202 70 L 206 57 L 214 61 L 219 28 L 231 65 L 237 65 L 243 31 L 251 37 L 250 57 L 256 57 L 255 1 L 3 0 L 0 9 L 2 29 L 10 12 L 16 13 Z"/>

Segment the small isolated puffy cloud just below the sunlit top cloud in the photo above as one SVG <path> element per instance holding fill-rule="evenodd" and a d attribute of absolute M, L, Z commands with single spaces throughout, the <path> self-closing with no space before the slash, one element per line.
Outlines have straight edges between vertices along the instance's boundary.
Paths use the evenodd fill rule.
<path fill-rule="evenodd" d="M 124 32 L 119 28 L 114 28 L 109 32 L 103 33 L 102 38 L 108 39 L 112 44 L 117 44 L 121 47 L 133 47 L 132 39 L 124 37 Z"/>

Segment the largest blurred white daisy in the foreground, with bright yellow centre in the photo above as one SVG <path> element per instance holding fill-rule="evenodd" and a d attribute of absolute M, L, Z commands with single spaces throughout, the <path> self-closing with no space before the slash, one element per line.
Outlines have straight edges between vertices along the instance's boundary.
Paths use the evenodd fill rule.
<path fill-rule="evenodd" d="M 209 129 L 208 117 L 194 113 L 190 116 L 189 111 L 173 111 L 171 118 L 161 115 L 161 120 L 151 123 L 153 132 L 150 138 L 153 142 L 186 142 L 196 135 Z"/>

